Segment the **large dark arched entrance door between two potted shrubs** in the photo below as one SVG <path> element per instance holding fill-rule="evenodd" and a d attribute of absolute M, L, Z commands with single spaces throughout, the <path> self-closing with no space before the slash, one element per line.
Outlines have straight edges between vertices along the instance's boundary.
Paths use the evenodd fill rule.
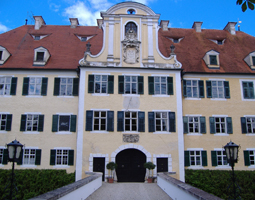
<path fill-rule="evenodd" d="M 137 149 L 126 149 L 116 156 L 118 182 L 144 182 L 146 155 Z"/>

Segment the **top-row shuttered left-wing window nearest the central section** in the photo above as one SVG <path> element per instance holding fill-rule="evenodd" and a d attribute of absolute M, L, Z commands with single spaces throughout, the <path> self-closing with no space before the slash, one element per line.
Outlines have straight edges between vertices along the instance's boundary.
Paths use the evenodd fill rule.
<path fill-rule="evenodd" d="M 79 78 L 55 78 L 54 96 L 78 96 Z"/>

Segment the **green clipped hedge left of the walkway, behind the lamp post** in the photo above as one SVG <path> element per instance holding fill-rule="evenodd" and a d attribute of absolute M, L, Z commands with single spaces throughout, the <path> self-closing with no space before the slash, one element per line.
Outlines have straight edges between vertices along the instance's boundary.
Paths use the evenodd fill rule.
<path fill-rule="evenodd" d="M 10 177 L 11 170 L 0 169 L 0 199 L 9 199 Z M 15 170 L 15 185 L 18 192 L 14 196 L 18 200 L 25 200 L 68 185 L 74 181 L 75 173 L 68 174 L 66 170 Z M 6 187 L 7 185 L 8 187 Z"/>

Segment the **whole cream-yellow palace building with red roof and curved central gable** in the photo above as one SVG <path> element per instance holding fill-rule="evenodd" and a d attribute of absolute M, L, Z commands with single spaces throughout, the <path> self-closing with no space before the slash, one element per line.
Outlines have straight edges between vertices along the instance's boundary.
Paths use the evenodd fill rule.
<path fill-rule="evenodd" d="M 118 181 L 157 172 L 255 169 L 255 38 L 235 30 L 168 28 L 135 2 L 101 12 L 98 26 L 24 25 L 0 35 L 0 168 L 6 143 L 25 144 L 19 169 L 102 171 Z"/>

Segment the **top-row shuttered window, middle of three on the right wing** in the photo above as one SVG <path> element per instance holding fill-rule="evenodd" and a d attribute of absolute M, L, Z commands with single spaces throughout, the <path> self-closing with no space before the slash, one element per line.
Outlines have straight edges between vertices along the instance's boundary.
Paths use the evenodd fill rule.
<path fill-rule="evenodd" d="M 207 98 L 230 98 L 228 81 L 206 81 Z"/>

